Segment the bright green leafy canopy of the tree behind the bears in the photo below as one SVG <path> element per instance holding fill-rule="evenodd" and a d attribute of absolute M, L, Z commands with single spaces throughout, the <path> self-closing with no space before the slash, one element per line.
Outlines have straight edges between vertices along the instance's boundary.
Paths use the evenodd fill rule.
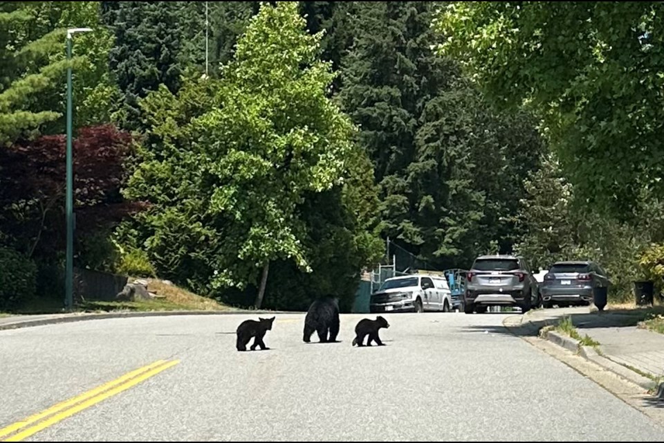
<path fill-rule="evenodd" d="M 152 129 L 127 193 L 154 204 L 149 248 L 165 256 L 177 235 L 174 269 L 196 260 L 210 289 L 254 283 L 277 259 L 311 271 L 297 207 L 342 184 L 353 126 L 326 97 L 334 75 L 305 26 L 297 2 L 264 3 L 220 80 L 143 104 Z"/>

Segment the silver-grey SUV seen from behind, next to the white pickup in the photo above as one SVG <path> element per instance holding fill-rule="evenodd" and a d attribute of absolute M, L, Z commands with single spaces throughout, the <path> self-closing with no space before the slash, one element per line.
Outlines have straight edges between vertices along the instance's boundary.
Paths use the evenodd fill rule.
<path fill-rule="evenodd" d="M 540 287 L 523 257 L 483 255 L 466 274 L 463 311 L 483 313 L 489 306 L 516 306 L 522 313 L 540 304 Z"/>

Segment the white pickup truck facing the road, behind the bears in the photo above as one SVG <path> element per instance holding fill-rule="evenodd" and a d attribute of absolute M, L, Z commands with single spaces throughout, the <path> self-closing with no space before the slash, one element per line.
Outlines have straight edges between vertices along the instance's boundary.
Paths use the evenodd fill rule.
<path fill-rule="evenodd" d="M 436 275 L 403 275 L 388 278 L 371 294 L 369 311 L 450 311 L 452 299 L 448 282 Z"/>

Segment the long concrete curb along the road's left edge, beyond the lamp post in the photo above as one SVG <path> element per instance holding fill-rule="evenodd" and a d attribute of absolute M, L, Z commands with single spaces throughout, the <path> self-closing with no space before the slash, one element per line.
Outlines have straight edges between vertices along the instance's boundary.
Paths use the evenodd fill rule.
<path fill-rule="evenodd" d="M 8 329 L 20 329 L 24 327 L 44 326 L 44 325 L 57 325 L 60 323 L 72 323 L 75 321 L 84 320 L 104 320 L 108 318 L 133 318 L 133 317 L 165 317 L 165 316 L 219 316 L 219 315 L 250 315 L 250 314 L 304 314 L 303 312 L 295 311 L 145 311 L 145 312 L 104 312 L 101 314 L 62 314 L 62 316 L 52 318 L 39 318 L 37 320 L 30 320 L 27 318 L 18 319 L 11 323 L 0 323 L 0 331 Z M 57 314 L 55 314 L 57 315 Z"/>

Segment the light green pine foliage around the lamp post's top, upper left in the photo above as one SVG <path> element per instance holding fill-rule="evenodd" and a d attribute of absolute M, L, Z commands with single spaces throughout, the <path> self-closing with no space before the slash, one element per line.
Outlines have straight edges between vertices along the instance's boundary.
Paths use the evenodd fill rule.
<path fill-rule="evenodd" d="M 0 3 L 0 145 L 65 130 L 66 28 L 81 23 L 73 47 L 74 126 L 104 123 L 114 100 L 107 78 L 110 35 L 96 29 L 98 2 Z"/>

